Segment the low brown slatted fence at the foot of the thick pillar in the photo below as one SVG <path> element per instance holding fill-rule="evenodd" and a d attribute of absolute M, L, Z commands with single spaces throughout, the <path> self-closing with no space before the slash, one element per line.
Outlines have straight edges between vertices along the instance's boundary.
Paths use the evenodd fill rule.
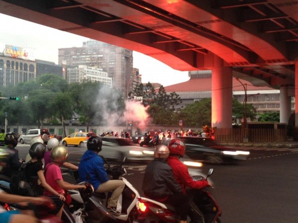
<path fill-rule="evenodd" d="M 243 142 L 244 129 L 242 128 L 215 128 L 215 140 L 217 142 Z M 287 129 L 247 129 L 248 142 L 284 142 L 287 140 Z"/>

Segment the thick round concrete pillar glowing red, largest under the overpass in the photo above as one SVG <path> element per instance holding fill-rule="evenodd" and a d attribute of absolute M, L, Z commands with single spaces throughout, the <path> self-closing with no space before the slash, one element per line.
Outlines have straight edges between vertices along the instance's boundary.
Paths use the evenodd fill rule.
<path fill-rule="evenodd" d="M 212 69 L 212 127 L 232 127 L 232 69 L 214 56 Z"/>

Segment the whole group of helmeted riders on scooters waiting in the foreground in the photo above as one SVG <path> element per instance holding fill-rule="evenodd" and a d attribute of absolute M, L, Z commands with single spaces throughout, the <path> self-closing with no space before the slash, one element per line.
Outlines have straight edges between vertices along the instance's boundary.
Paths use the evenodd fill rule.
<path fill-rule="evenodd" d="M 171 138 L 170 133 L 167 137 Z M 192 216 L 194 223 L 205 222 L 204 219 L 220 222 L 219 206 L 210 193 L 202 190 L 211 185 L 207 178 L 212 171 L 207 177 L 190 177 L 187 167 L 179 161 L 185 153 L 185 144 L 180 139 L 173 138 L 168 145 L 156 146 L 154 161 L 145 170 L 142 189 L 147 197 L 141 197 L 123 177 L 126 174 L 122 167 L 125 158 L 120 165 L 111 167 L 100 156 L 102 140 L 98 136 L 88 139 L 87 151 L 82 155 L 79 167 L 68 163 L 67 148 L 60 145 L 56 138 L 47 138 L 46 134 L 32 138 L 26 161 L 18 158 L 15 149 L 18 138 L 15 133 L 5 134 L 4 142 L 6 147 L 0 148 L 1 223 L 33 223 L 40 220 L 51 223 L 147 223 L 149 220 L 186 223 L 187 215 Z M 172 166 L 169 161 L 175 165 Z M 175 170 L 177 165 L 179 168 Z M 73 172 L 76 184 L 64 181 L 61 166 L 72 171 L 78 170 L 76 174 L 79 178 L 74 177 Z M 21 173 L 25 173 L 25 178 L 21 178 Z M 108 174 L 112 179 L 107 177 Z M 194 191 L 201 189 L 199 194 L 192 195 L 197 199 L 189 200 L 186 186 Z M 205 198 L 200 198 L 203 195 Z M 208 203 L 203 204 L 206 199 Z M 28 202 L 34 204 L 33 207 Z M 192 204 L 195 205 L 195 211 Z M 213 207 L 211 213 L 204 208 L 210 205 Z M 24 211 L 23 206 L 35 212 L 26 208 Z M 156 208 L 158 212 L 154 211 Z"/>

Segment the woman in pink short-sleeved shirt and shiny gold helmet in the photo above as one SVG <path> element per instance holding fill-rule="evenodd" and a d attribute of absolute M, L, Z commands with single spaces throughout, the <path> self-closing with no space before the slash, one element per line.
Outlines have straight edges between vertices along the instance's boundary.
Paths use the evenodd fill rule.
<path fill-rule="evenodd" d="M 58 145 L 54 147 L 51 151 L 52 163 L 49 163 L 45 167 L 45 178 L 47 183 L 58 193 L 65 195 L 65 190 L 72 189 L 85 189 L 84 185 L 75 185 L 68 182 L 65 182 L 62 177 L 62 172 L 60 165 L 66 162 L 68 157 L 68 150 L 63 145 Z M 51 197 L 57 207 L 56 215 L 61 219 L 64 203 L 57 197 L 56 194 L 53 194 L 49 191 L 44 191 L 45 196 Z M 55 197 L 57 199 L 55 199 Z"/>

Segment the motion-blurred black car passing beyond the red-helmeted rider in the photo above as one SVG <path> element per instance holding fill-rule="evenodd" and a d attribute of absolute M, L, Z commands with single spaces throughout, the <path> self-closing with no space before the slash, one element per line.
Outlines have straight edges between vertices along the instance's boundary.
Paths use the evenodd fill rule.
<path fill-rule="evenodd" d="M 211 164 L 237 163 L 246 160 L 248 151 L 218 145 L 212 138 L 208 137 L 178 137 L 186 146 L 185 154 L 194 161 L 202 161 Z M 166 144 L 166 142 L 163 142 Z"/>

